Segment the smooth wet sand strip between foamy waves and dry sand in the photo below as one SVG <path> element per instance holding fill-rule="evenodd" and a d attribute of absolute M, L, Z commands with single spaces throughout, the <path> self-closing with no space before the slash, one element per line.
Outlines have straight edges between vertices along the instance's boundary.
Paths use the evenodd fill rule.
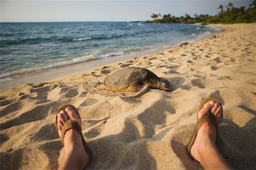
<path fill-rule="evenodd" d="M 209 25 L 209 26 L 217 27 L 214 25 Z M 114 57 L 108 57 L 108 58 L 102 58 L 102 59 L 93 59 L 92 61 L 86 61 L 86 62 L 75 63 L 67 66 L 55 67 L 53 69 L 41 70 L 36 73 L 28 73 L 25 75 L 13 76 L 10 78 L 11 80 L 1 80 L 0 91 L 5 91 L 9 88 L 16 88 L 24 84 L 53 82 L 56 80 L 67 78 L 69 76 L 88 73 L 94 69 L 100 69 L 100 67 L 103 67 L 105 65 L 109 66 L 109 65 L 116 64 L 117 62 L 125 62 L 127 59 L 132 59 L 134 57 L 143 57 L 149 54 L 156 54 L 164 50 L 174 49 L 174 48 L 177 48 L 181 42 L 187 41 L 189 43 L 193 43 L 193 42 L 201 41 L 204 39 L 208 39 L 209 37 L 213 35 L 217 35 L 218 33 L 225 32 L 224 28 L 222 27 L 217 27 L 217 28 L 221 28 L 222 30 L 217 31 L 216 33 L 212 33 L 209 36 L 203 37 L 203 38 L 197 37 L 197 39 L 191 39 L 187 37 L 187 39 L 181 40 L 180 42 L 172 42 L 172 44 L 170 43 L 166 44 L 168 47 L 164 47 L 163 46 L 164 44 L 162 44 L 161 48 L 160 46 L 156 46 L 155 49 L 148 49 L 148 50 L 143 50 L 139 52 L 133 52 L 133 53 L 125 54 L 121 56 L 114 56 Z"/>

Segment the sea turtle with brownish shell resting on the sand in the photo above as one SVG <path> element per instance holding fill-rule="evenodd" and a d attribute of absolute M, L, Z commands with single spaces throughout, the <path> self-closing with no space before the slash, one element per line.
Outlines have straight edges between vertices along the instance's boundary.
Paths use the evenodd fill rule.
<path fill-rule="evenodd" d="M 171 84 L 167 79 L 159 78 L 150 70 L 140 67 L 126 67 L 108 75 L 104 84 L 115 91 L 136 92 L 133 96 L 138 97 L 151 88 L 171 91 Z"/>

